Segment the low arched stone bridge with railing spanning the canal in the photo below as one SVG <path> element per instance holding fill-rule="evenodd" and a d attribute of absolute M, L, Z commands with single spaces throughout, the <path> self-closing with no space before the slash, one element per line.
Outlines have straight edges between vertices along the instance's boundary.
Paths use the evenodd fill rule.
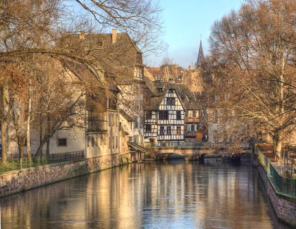
<path fill-rule="evenodd" d="M 151 154 L 155 159 L 167 159 L 171 154 L 177 154 L 185 160 L 202 160 L 205 155 L 227 155 L 230 158 L 240 158 L 242 154 L 251 153 L 249 142 L 210 143 L 210 142 L 157 142 L 151 144 Z"/>

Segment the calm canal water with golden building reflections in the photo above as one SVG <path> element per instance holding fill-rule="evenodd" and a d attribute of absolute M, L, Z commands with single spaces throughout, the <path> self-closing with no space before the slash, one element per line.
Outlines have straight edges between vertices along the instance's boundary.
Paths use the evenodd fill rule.
<path fill-rule="evenodd" d="M 288 229 L 256 168 L 129 164 L 1 198 L 2 229 Z"/>

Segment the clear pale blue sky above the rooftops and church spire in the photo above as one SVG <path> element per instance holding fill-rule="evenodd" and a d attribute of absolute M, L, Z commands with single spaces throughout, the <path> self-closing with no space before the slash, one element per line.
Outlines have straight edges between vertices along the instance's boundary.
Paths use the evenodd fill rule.
<path fill-rule="evenodd" d="M 164 41 L 168 50 L 160 57 L 150 55 L 146 65 L 159 66 L 162 58 L 168 56 L 174 63 L 188 68 L 196 62 L 202 35 L 204 54 L 208 52 L 208 37 L 212 24 L 231 9 L 239 9 L 242 0 L 160 0 L 164 8 L 166 34 Z"/>

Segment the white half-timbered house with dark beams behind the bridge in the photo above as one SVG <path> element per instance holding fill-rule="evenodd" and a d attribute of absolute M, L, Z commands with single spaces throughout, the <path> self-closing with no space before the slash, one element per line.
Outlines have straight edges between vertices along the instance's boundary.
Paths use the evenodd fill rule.
<path fill-rule="evenodd" d="M 145 80 L 145 140 L 197 141 L 199 106 L 192 93 L 184 84 Z"/>

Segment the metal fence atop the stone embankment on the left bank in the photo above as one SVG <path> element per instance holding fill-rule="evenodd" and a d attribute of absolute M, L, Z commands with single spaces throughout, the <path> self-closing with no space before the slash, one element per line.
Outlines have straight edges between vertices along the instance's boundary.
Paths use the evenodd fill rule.
<path fill-rule="evenodd" d="M 45 164 L 73 161 L 84 158 L 84 151 L 74 151 L 60 154 L 49 154 L 46 156 L 34 157 L 31 161 L 28 158 L 7 160 L 7 164 L 0 165 L 0 173 L 17 169 L 30 168 Z"/>

